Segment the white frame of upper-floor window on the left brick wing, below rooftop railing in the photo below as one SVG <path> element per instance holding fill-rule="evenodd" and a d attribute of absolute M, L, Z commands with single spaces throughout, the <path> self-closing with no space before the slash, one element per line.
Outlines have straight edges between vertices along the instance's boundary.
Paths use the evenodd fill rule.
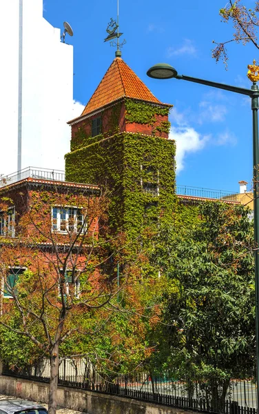
<path fill-rule="evenodd" d="M 54 209 L 57 211 L 54 212 Z M 74 228 L 69 228 L 71 225 L 69 224 L 69 219 L 71 217 L 70 212 L 72 211 L 72 219 L 74 220 Z M 56 214 L 56 217 L 54 215 Z M 65 215 L 65 218 L 62 219 L 61 215 Z M 81 224 L 79 224 L 78 217 L 79 214 L 81 215 Z M 83 225 L 83 221 L 85 220 L 85 216 L 82 213 L 82 209 L 79 207 L 73 207 L 73 206 L 54 206 L 51 210 L 51 219 L 52 219 L 52 232 L 53 233 L 62 233 L 62 234 L 69 234 L 71 231 L 74 231 L 74 233 L 79 233 L 78 225 Z M 54 220 L 56 220 L 56 223 L 54 223 Z M 65 223 L 65 229 L 63 230 L 61 226 Z M 85 228 L 87 226 L 87 223 L 85 223 L 83 227 L 83 232 L 85 232 Z"/>

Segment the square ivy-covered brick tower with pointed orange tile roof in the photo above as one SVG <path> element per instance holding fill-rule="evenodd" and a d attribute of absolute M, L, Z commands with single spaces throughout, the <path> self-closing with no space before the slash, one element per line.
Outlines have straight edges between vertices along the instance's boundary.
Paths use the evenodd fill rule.
<path fill-rule="evenodd" d="M 110 227 L 136 238 L 143 226 L 172 217 L 175 143 L 168 139 L 171 105 L 160 102 L 116 57 L 72 127 L 65 155 L 68 181 L 110 192 Z"/>

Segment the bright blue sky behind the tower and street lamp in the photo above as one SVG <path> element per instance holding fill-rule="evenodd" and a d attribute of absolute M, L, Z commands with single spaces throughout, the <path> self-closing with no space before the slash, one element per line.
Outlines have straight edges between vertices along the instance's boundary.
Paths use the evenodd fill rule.
<path fill-rule="evenodd" d="M 147 77 L 150 66 L 170 63 L 179 74 L 251 87 L 247 64 L 257 59 L 254 46 L 229 44 L 229 65 L 211 58 L 212 40 L 231 39 L 231 23 L 218 11 L 227 0 L 120 0 L 123 59 L 160 101 L 172 103 L 172 137 L 178 145 L 177 183 L 238 191 L 251 185 L 250 99 L 187 81 Z M 253 0 L 246 0 L 253 6 Z M 53 26 L 68 21 L 74 37 L 74 99 L 86 104 L 114 59 L 104 43 L 107 23 L 116 19 L 116 0 L 44 0 L 44 17 Z"/>

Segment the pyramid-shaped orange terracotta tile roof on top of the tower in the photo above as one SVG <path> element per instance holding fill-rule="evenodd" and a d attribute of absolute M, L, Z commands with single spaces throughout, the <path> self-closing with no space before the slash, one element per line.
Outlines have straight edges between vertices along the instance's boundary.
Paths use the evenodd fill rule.
<path fill-rule="evenodd" d="M 90 114 L 94 110 L 98 110 L 123 97 L 162 104 L 145 86 L 145 83 L 127 66 L 127 63 L 120 57 L 116 57 L 96 88 L 94 95 L 85 106 L 81 116 Z"/>

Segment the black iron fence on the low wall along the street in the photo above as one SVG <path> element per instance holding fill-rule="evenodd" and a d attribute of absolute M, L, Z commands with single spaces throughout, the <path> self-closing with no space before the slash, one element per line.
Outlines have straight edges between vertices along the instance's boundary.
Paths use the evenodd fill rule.
<path fill-rule="evenodd" d="M 22 370 L 3 364 L 3 375 L 49 382 L 50 359 L 43 358 Z M 156 402 L 217 414 L 256 414 L 256 383 L 251 375 L 240 378 L 172 378 L 169 373 L 114 375 L 98 373 L 89 359 L 65 358 L 59 365 L 59 384 L 101 393 Z"/>

